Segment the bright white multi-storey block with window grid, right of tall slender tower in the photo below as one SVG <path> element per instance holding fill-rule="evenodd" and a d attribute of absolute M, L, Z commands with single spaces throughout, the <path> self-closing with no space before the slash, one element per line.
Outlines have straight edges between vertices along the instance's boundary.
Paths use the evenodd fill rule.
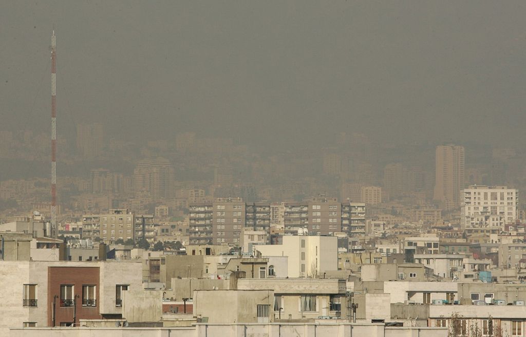
<path fill-rule="evenodd" d="M 464 227 L 503 227 L 517 219 L 516 189 L 472 185 L 464 189 L 462 194 Z"/>

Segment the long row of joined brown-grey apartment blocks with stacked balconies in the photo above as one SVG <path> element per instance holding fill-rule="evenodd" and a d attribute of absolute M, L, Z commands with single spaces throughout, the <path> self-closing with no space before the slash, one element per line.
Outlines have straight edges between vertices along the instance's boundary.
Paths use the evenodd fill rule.
<path fill-rule="evenodd" d="M 216 198 L 190 203 L 189 221 L 190 244 L 240 244 L 242 229 L 269 234 L 270 223 L 283 224 L 288 235 L 319 236 L 344 231 L 352 237 L 365 235 L 366 224 L 365 203 L 340 203 L 336 198 L 325 197 L 279 205 Z"/>

